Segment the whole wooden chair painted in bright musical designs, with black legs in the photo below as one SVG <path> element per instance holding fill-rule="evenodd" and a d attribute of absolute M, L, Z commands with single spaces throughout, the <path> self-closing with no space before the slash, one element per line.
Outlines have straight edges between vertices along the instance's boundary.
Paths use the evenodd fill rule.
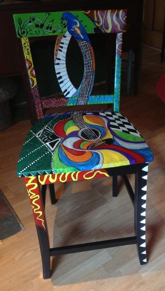
<path fill-rule="evenodd" d="M 147 170 L 153 154 L 137 129 L 119 112 L 122 34 L 126 30 L 126 13 L 126 10 L 95 10 L 14 15 L 38 116 L 23 145 L 17 174 L 25 179 L 38 232 L 45 279 L 51 276 L 50 256 L 66 253 L 137 244 L 140 264 L 147 263 Z M 99 32 L 116 34 L 113 95 L 91 95 L 95 59 L 89 34 Z M 63 92 L 61 98 L 41 99 L 38 91 L 28 37 L 47 35 L 58 35 L 54 67 L 59 88 Z M 78 88 L 72 84 L 66 69 L 71 38 L 77 41 L 84 59 L 84 75 Z M 72 105 L 103 103 L 113 104 L 113 110 L 70 111 Z M 58 106 L 69 106 L 69 110 L 52 115 L 45 113 L 46 109 Z M 135 193 L 127 179 L 128 174 L 135 174 Z M 135 236 L 50 248 L 45 217 L 46 185 L 50 184 L 53 189 L 54 183 L 112 176 L 113 196 L 117 196 L 119 175 L 134 205 Z M 54 196 L 52 203 L 55 202 Z"/>

